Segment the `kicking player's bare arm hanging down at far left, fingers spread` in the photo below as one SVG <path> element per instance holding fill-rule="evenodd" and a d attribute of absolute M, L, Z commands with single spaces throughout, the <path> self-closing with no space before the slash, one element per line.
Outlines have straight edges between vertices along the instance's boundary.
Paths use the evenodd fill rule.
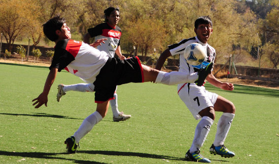
<path fill-rule="evenodd" d="M 45 104 L 45 106 L 47 106 L 49 90 L 50 90 L 50 88 L 51 88 L 51 86 L 52 86 L 52 84 L 55 80 L 57 71 L 58 71 L 57 68 L 52 68 L 49 71 L 49 74 L 48 74 L 48 77 L 46 79 L 46 83 L 45 83 L 45 87 L 44 87 L 43 92 L 36 99 L 32 100 L 32 102 L 35 101 L 33 103 L 33 106 L 37 104 L 35 106 L 35 108 L 40 108 L 43 104 Z"/>

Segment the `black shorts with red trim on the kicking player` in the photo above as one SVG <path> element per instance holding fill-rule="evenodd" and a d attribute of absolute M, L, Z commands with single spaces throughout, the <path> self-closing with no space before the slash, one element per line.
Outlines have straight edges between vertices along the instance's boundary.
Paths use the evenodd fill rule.
<path fill-rule="evenodd" d="M 93 83 L 95 86 L 95 102 L 102 103 L 114 99 L 116 86 L 143 82 L 143 68 L 138 57 L 126 60 L 109 58 Z"/>

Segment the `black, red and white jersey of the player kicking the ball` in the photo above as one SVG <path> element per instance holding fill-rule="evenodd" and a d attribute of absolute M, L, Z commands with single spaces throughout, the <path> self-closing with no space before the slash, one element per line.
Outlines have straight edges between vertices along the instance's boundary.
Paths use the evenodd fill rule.
<path fill-rule="evenodd" d="M 93 83 L 109 56 L 88 44 L 76 40 L 60 40 L 54 48 L 52 64 L 49 67 L 62 69 L 80 77 L 86 83 Z"/>

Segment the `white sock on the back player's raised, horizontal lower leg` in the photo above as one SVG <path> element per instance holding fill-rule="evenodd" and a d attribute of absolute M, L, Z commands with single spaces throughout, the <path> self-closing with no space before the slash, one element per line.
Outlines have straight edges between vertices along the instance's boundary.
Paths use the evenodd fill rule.
<path fill-rule="evenodd" d="M 80 83 L 75 85 L 64 85 L 63 87 L 64 92 L 68 91 L 79 91 L 79 92 L 94 92 L 94 85 L 92 83 Z"/>

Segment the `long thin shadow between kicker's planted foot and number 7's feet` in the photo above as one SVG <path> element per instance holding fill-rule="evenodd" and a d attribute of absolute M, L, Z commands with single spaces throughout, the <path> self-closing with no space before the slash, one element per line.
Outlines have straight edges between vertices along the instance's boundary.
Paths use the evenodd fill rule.
<path fill-rule="evenodd" d="M 137 156 L 137 157 L 143 157 L 143 158 L 169 159 L 169 160 L 184 160 L 184 158 L 178 158 L 178 157 L 166 156 L 166 155 L 149 154 L 149 153 L 141 153 L 141 152 L 79 150 L 78 153 L 117 155 L 117 156 Z"/>

